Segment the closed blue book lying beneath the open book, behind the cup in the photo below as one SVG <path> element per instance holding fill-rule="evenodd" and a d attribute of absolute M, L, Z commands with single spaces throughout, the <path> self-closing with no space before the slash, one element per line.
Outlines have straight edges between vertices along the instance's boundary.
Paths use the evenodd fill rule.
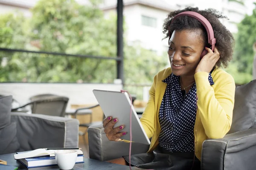
<path fill-rule="evenodd" d="M 18 159 L 18 161 L 20 161 L 27 168 L 57 165 L 57 162 L 54 156 L 39 156 L 39 157 L 32 157 L 32 158 L 24 158 L 24 159 Z M 84 162 L 84 155 L 78 155 L 76 159 L 76 163 L 83 163 L 83 162 Z"/>

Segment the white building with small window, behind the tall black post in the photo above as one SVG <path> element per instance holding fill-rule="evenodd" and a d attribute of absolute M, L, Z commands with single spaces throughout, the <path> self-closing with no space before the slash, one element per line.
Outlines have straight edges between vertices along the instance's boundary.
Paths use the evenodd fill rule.
<path fill-rule="evenodd" d="M 129 45 L 139 43 L 144 48 L 162 55 L 168 49 L 168 40 L 162 40 L 163 22 L 176 5 L 167 0 L 123 0 L 125 18 L 125 38 Z M 116 0 L 105 0 L 101 6 L 105 16 L 116 13 Z"/>

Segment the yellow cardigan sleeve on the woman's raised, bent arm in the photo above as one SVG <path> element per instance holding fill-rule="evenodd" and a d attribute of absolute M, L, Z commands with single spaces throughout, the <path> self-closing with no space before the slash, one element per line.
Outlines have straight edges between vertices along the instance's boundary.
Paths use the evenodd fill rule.
<path fill-rule="evenodd" d="M 230 130 L 234 108 L 235 82 L 225 73 L 218 77 L 215 91 L 209 84 L 209 73 L 198 72 L 195 82 L 198 96 L 198 109 L 201 122 L 208 138 L 223 138 Z"/>

